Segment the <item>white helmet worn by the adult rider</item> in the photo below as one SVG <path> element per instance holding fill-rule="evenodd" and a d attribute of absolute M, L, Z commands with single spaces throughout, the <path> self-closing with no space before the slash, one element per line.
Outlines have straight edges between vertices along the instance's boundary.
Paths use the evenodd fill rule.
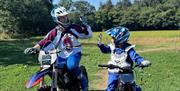
<path fill-rule="evenodd" d="M 67 18 L 65 21 L 60 21 L 61 16 L 66 16 L 68 15 L 68 12 L 66 11 L 66 9 L 64 7 L 55 7 L 52 11 L 51 11 L 51 16 L 54 20 L 54 22 L 58 23 L 58 24 L 62 24 L 62 25 L 67 25 L 69 23 L 69 19 Z"/>

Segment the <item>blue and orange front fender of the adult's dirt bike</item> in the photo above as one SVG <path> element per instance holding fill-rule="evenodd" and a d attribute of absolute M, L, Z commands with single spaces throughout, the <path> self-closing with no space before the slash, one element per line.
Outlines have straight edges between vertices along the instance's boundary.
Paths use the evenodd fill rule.
<path fill-rule="evenodd" d="M 46 74 L 48 74 L 49 71 L 50 71 L 50 68 L 36 72 L 26 82 L 26 88 L 32 88 L 32 87 L 36 86 L 37 84 L 39 84 L 43 79 L 42 77 L 45 76 Z"/>

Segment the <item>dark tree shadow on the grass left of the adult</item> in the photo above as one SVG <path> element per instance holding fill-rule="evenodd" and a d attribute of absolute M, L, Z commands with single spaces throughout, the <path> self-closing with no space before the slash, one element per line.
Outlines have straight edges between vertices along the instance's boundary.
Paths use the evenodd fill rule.
<path fill-rule="evenodd" d="M 24 49 L 32 47 L 36 40 L 1 40 L 0 65 L 28 64 L 38 65 L 36 55 L 25 55 Z"/>

